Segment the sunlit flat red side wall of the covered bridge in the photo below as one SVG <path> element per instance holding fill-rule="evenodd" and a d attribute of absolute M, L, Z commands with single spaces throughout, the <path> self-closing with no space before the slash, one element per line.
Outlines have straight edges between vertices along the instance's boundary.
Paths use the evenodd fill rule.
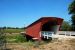
<path fill-rule="evenodd" d="M 26 29 L 26 34 L 29 36 L 32 36 L 33 38 L 40 38 L 40 27 L 41 27 L 41 22 L 36 23 L 35 25 L 29 27 Z"/>

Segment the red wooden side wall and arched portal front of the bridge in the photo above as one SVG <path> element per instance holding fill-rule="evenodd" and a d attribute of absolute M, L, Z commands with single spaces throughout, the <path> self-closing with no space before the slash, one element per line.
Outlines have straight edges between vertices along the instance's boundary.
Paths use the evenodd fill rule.
<path fill-rule="evenodd" d="M 61 25 L 63 19 L 61 18 L 56 18 L 56 17 L 43 17 L 37 20 L 36 22 L 32 23 L 26 28 L 26 34 L 33 37 L 33 38 L 40 38 L 40 31 L 42 28 L 42 25 L 45 24 L 48 21 L 55 21 L 56 20 L 56 25 Z"/>

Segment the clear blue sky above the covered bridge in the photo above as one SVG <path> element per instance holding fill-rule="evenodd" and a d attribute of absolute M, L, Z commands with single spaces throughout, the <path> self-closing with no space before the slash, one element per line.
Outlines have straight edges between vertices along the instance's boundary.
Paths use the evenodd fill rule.
<path fill-rule="evenodd" d="M 0 0 L 0 27 L 26 27 L 41 17 L 70 21 L 72 0 Z"/>

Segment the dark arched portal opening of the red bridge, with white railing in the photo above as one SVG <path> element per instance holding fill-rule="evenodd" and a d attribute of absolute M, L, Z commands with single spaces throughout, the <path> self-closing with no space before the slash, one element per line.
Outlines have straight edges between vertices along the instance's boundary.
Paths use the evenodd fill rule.
<path fill-rule="evenodd" d="M 52 38 L 52 35 L 55 34 L 57 30 L 56 21 L 48 21 L 42 25 L 41 35 L 43 40 L 48 40 Z"/>

